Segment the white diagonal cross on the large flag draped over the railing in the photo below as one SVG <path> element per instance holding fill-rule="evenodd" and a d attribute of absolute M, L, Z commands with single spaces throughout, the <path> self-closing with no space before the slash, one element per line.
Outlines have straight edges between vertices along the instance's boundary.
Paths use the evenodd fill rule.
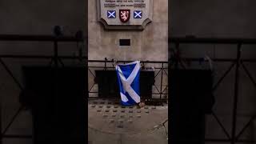
<path fill-rule="evenodd" d="M 131 72 L 131 74 L 128 78 L 125 78 L 125 76 L 122 74 L 122 70 L 120 69 L 119 66 L 117 66 L 117 70 L 118 70 L 118 74 L 120 76 L 122 86 L 123 86 L 123 89 L 125 90 L 125 92 L 127 91 L 127 93 L 130 95 L 131 98 L 134 99 L 135 102 L 140 102 L 139 95 L 130 86 L 131 83 L 134 82 L 134 78 L 136 78 L 136 75 L 138 74 L 138 70 L 140 69 L 139 62 L 131 62 L 129 64 L 134 64 L 134 63 L 136 63 L 136 66 L 134 67 L 134 70 Z M 121 93 L 121 98 L 122 98 L 122 100 L 124 100 L 124 102 L 128 101 L 125 94 Z"/>

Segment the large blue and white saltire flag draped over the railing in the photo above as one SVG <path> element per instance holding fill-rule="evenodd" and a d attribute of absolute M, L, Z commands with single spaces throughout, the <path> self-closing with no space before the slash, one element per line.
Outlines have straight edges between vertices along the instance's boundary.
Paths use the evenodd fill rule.
<path fill-rule="evenodd" d="M 139 91 L 140 62 L 130 62 L 116 66 L 122 105 L 130 106 L 141 101 Z"/>

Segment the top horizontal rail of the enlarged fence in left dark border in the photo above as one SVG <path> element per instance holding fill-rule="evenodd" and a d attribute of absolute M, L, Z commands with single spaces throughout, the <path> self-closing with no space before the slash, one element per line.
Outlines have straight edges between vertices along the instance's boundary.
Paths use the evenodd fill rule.
<path fill-rule="evenodd" d="M 81 42 L 83 39 L 74 36 L 55 37 L 53 35 L 0 34 L 0 41 Z"/>

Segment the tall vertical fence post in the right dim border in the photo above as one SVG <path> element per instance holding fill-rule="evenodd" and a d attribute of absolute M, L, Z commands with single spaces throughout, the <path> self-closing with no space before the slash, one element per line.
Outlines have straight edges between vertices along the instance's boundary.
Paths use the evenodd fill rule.
<path fill-rule="evenodd" d="M 233 122 L 232 122 L 232 137 L 231 137 L 231 144 L 235 144 L 236 138 L 236 123 L 237 123 L 237 110 L 238 110 L 238 86 L 239 86 L 239 67 L 240 67 L 240 60 L 241 60 L 241 43 L 238 43 L 238 50 L 237 50 L 237 59 L 236 59 L 236 69 L 235 69 L 235 82 L 234 82 L 234 101 L 233 101 Z"/>

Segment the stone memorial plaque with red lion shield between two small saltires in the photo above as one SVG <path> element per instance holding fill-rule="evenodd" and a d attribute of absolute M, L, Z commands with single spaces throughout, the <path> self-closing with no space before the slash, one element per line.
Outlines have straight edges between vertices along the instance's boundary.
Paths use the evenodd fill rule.
<path fill-rule="evenodd" d="M 154 0 L 97 0 L 98 21 L 106 30 L 144 30 L 152 21 Z"/>

